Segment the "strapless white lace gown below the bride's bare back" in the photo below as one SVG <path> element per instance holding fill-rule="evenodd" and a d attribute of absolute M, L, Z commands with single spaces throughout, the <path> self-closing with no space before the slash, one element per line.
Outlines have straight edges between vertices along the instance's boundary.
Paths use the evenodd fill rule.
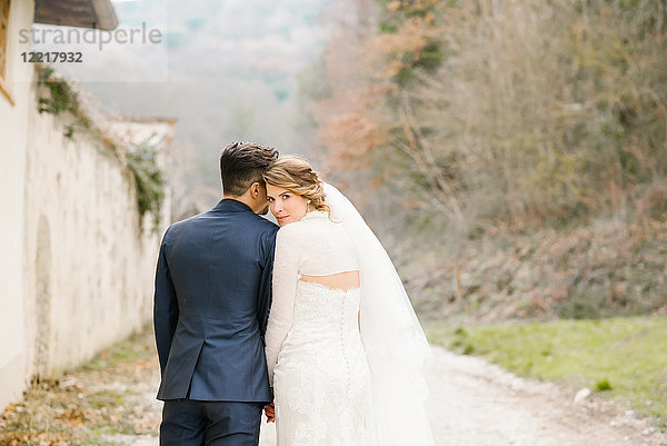
<path fill-rule="evenodd" d="M 292 327 L 273 369 L 278 446 L 369 446 L 370 374 L 360 293 L 298 281 Z"/>

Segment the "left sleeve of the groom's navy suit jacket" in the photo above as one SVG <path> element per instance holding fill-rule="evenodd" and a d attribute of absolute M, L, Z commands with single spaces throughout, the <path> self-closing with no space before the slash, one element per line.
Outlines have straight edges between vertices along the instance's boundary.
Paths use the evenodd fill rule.
<path fill-rule="evenodd" d="M 169 359 L 171 349 L 171 339 L 176 331 L 178 323 L 178 300 L 176 289 L 169 274 L 169 265 L 166 257 L 167 232 L 162 238 L 160 254 L 158 257 L 158 267 L 156 269 L 156 293 L 153 303 L 153 327 L 156 331 L 156 345 L 158 348 L 158 358 L 160 360 L 160 370 L 163 374 Z"/>

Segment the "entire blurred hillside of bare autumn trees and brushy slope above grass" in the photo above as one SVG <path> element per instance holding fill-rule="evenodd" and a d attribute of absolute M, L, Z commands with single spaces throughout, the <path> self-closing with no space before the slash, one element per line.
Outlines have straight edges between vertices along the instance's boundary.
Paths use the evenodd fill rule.
<path fill-rule="evenodd" d="M 663 0 L 344 3 L 323 170 L 425 314 L 667 311 Z"/>

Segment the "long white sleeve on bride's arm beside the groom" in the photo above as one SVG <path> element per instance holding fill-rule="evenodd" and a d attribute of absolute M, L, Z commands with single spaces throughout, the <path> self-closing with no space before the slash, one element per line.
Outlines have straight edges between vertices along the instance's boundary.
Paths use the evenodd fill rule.
<path fill-rule="evenodd" d="M 286 226 L 278 231 L 276 238 L 272 278 L 273 297 L 266 336 L 267 367 L 271 387 L 273 387 L 273 367 L 278 360 L 278 354 L 292 325 L 297 280 L 299 278 L 298 252 L 300 249 L 296 246 L 298 240 L 295 236 L 297 235 L 298 232 Z"/>

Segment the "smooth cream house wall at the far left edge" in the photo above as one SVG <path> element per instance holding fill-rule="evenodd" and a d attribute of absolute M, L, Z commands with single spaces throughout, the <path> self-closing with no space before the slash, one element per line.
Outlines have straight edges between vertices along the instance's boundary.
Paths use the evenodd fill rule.
<path fill-rule="evenodd" d="M 14 101 L 0 93 L 0 410 L 24 388 L 23 194 L 28 98 L 33 67 L 19 60 L 28 44 L 19 29 L 30 29 L 34 2 L 12 1 L 9 16 L 6 85 Z"/>

